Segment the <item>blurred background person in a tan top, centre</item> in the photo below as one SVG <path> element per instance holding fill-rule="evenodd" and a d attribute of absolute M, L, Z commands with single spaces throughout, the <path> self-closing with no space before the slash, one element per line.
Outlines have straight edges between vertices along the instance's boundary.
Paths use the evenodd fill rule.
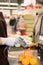
<path fill-rule="evenodd" d="M 17 31 L 21 33 L 22 36 L 26 35 L 26 23 L 24 21 L 24 17 L 20 15 L 17 19 Z"/>

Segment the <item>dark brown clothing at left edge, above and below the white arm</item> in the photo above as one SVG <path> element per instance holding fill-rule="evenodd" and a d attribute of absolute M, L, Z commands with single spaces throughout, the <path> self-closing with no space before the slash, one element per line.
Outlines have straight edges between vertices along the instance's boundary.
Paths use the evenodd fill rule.
<path fill-rule="evenodd" d="M 7 37 L 7 25 L 2 12 L 0 12 L 0 37 Z M 0 45 L 0 65 L 9 65 L 6 45 Z"/>

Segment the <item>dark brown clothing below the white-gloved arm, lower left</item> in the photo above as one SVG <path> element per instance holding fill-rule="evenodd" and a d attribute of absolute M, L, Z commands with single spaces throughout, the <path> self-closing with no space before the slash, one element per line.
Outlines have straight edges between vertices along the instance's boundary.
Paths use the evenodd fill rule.
<path fill-rule="evenodd" d="M 0 45 L 0 65 L 9 65 L 6 45 Z"/>

